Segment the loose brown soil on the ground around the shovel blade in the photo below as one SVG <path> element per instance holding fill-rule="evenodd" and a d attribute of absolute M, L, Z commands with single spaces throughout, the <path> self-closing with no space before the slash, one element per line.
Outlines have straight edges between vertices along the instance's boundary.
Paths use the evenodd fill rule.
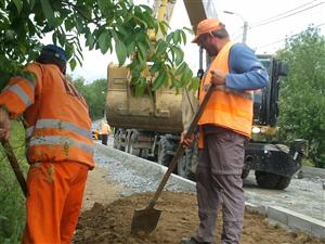
<path fill-rule="evenodd" d="M 148 234 L 132 235 L 134 209 L 144 208 L 152 193 L 134 194 L 104 206 L 95 203 L 81 214 L 75 244 L 179 244 L 181 237 L 193 234 L 197 223 L 196 196 L 190 193 L 164 192 L 156 208 L 161 209 L 156 230 Z M 217 230 L 220 230 L 219 216 Z M 220 231 L 216 243 L 220 242 Z M 287 232 L 270 227 L 258 214 L 246 213 L 242 244 L 324 244 L 306 233 Z"/>

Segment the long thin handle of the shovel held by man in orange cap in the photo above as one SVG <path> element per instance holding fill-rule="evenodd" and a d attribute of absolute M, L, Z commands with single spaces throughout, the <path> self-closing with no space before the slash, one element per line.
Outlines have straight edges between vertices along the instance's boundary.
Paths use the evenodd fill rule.
<path fill-rule="evenodd" d="M 206 93 L 202 104 L 198 107 L 198 111 L 196 112 L 196 114 L 195 114 L 195 116 L 194 116 L 194 118 L 193 118 L 193 120 L 190 125 L 190 128 L 188 128 L 188 130 L 185 134 L 185 138 L 190 138 L 193 134 L 193 132 L 195 130 L 195 127 L 197 126 L 197 123 L 198 123 L 198 120 L 199 120 L 199 118 L 200 118 L 200 116 L 202 116 L 202 114 L 203 114 L 203 112 L 204 112 L 204 110 L 205 110 L 205 107 L 206 107 L 206 105 L 207 105 L 214 88 L 216 88 L 216 86 L 211 84 L 210 87 L 209 87 L 208 92 Z M 155 192 L 154 197 L 151 200 L 151 202 L 147 206 L 147 209 L 154 208 L 154 206 L 156 205 L 156 202 L 157 202 L 158 197 L 160 196 L 160 194 L 161 194 L 161 192 L 162 192 L 162 190 L 164 190 L 171 172 L 173 171 L 174 167 L 178 164 L 179 158 L 184 154 L 184 152 L 185 152 L 185 147 L 183 147 L 182 144 L 179 143 L 178 150 L 177 150 L 174 156 L 172 157 L 172 160 L 169 164 L 168 169 L 165 172 L 165 175 L 164 175 L 164 177 L 162 177 L 162 179 L 161 179 L 161 181 L 160 181 L 160 183 L 159 183 L 159 185 L 158 185 L 158 188 Z"/>

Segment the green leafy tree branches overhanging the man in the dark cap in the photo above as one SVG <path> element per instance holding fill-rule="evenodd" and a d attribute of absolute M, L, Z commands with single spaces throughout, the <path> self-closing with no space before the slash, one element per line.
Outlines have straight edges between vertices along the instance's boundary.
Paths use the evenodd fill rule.
<path fill-rule="evenodd" d="M 72 69 L 77 62 L 82 63 L 80 37 L 84 37 L 89 50 L 115 51 L 119 65 L 130 57 L 132 84 L 140 93 L 144 84 L 153 90 L 162 85 L 197 88 L 198 80 L 183 61 L 180 48 L 190 29 L 167 34 L 167 23 L 158 22 L 147 5 L 134 5 L 129 0 L 1 0 L 0 8 L 2 85 L 22 65 L 35 60 L 40 39 L 50 33 L 53 42 L 67 52 Z M 164 37 L 153 42 L 148 30 Z"/>

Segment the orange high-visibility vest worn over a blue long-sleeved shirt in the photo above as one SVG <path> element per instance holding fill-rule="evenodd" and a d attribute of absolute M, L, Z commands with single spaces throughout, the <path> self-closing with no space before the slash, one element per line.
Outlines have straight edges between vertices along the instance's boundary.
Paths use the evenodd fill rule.
<path fill-rule="evenodd" d="M 203 77 L 199 91 L 199 103 L 203 102 L 209 89 L 210 70 L 219 69 L 229 73 L 229 54 L 233 43 L 226 43 L 212 61 L 208 72 Z M 252 92 L 230 90 L 224 86 L 217 87 L 198 121 L 200 126 L 199 147 L 203 149 L 204 134 L 202 126 L 206 124 L 220 126 L 250 137 L 252 123 Z"/>

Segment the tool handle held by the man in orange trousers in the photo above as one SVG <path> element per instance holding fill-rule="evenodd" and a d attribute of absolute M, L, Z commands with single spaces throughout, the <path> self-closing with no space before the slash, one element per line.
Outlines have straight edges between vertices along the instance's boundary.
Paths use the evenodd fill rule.
<path fill-rule="evenodd" d="M 12 169 L 13 169 L 13 171 L 14 171 L 17 180 L 18 180 L 21 189 L 22 189 L 25 197 L 27 197 L 28 192 L 27 192 L 26 180 L 25 180 L 24 175 L 22 172 L 22 169 L 20 167 L 18 160 L 17 160 L 17 158 L 16 158 L 16 156 L 15 156 L 13 150 L 12 150 L 12 146 L 11 146 L 11 144 L 8 140 L 1 140 L 1 144 L 4 149 L 4 152 L 5 152 L 5 155 L 9 159 L 9 162 L 10 162 L 10 165 L 11 165 L 11 167 L 12 167 Z"/>

